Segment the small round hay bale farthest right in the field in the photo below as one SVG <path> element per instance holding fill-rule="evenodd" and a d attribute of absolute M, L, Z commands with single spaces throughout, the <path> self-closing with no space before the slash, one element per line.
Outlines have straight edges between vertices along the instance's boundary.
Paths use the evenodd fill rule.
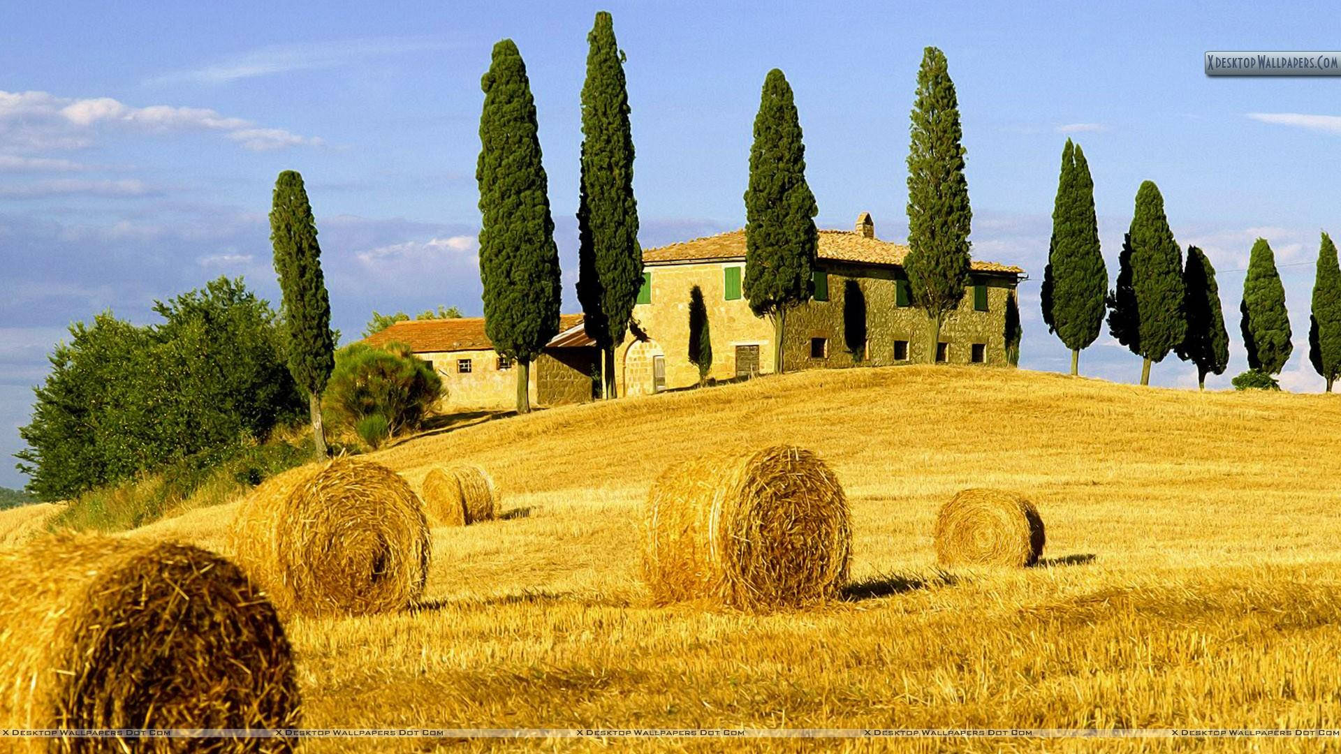
<path fill-rule="evenodd" d="M 941 506 L 932 533 L 941 565 L 1031 566 L 1043 554 L 1043 519 L 1008 490 L 964 490 Z"/>

